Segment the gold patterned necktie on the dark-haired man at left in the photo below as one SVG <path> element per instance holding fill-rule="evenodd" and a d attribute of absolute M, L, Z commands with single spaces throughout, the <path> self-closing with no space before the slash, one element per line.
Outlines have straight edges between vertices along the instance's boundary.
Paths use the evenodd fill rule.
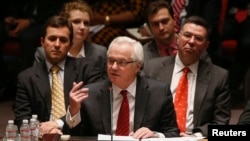
<path fill-rule="evenodd" d="M 60 68 L 58 66 L 53 66 L 51 68 L 52 72 L 52 117 L 53 120 L 59 119 L 66 114 L 65 102 L 64 102 L 64 92 L 61 79 L 58 77 L 58 72 Z"/>

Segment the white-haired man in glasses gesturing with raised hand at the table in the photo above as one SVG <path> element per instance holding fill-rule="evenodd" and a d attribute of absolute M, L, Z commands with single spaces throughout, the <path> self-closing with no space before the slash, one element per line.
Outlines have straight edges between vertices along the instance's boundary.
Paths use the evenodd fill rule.
<path fill-rule="evenodd" d="M 138 75 L 143 63 L 142 45 L 128 37 L 117 37 L 110 43 L 107 58 L 108 80 L 84 88 L 81 82 L 74 84 L 65 131 L 70 128 L 71 135 L 84 136 L 115 133 L 123 100 L 120 92 L 127 90 L 129 128 L 124 135 L 179 136 L 169 85 Z"/>

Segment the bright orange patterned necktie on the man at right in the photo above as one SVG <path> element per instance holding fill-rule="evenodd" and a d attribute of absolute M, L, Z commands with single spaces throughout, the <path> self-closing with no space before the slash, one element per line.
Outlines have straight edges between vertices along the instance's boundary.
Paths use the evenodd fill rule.
<path fill-rule="evenodd" d="M 187 74 L 188 74 L 189 68 L 185 67 L 182 71 L 183 71 L 183 74 L 176 88 L 174 108 L 176 112 L 178 128 L 180 129 L 181 132 L 185 132 L 186 113 L 187 113 L 187 95 L 188 95 Z"/>

